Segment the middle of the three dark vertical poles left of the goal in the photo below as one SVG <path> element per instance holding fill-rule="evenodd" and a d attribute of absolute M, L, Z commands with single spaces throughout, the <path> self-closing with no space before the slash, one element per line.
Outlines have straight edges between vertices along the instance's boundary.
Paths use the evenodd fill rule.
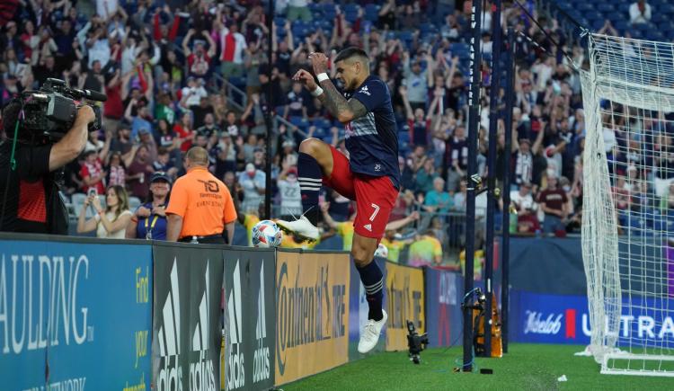
<path fill-rule="evenodd" d="M 492 87 L 489 93 L 489 153 L 487 167 L 487 232 L 484 259 L 484 285 L 486 310 L 484 311 L 484 357 L 492 357 L 492 301 L 493 301 L 493 236 L 494 209 L 496 208 L 496 134 L 499 126 L 499 87 L 501 79 L 501 0 L 494 0 L 492 15 Z M 505 224 L 505 223 L 504 223 Z"/>

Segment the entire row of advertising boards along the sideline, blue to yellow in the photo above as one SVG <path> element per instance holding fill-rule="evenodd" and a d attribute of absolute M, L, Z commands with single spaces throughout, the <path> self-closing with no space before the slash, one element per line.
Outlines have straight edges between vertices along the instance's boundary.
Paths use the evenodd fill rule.
<path fill-rule="evenodd" d="M 0 244 L 3 389 L 263 390 L 365 357 L 368 303 L 349 253 L 47 235 Z M 460 277 L 376 262 L 389 321 L 375 351 L 406 351 L 408 319 L 447 345 Z"/>

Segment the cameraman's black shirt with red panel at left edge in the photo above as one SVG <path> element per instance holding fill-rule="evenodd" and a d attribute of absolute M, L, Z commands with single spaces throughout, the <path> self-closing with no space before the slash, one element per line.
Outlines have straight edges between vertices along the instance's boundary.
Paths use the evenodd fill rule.
<path fill-rule="evenodd" d="M 51 211 L 61 203 L 49 174 L 50 152 L 51 146 L 17 145 L 13 171 L 12 142 L 0 142 L 0 215 L 4 211 L 1 231 L 63 234 L 50 228 L 54 218 Z"/>

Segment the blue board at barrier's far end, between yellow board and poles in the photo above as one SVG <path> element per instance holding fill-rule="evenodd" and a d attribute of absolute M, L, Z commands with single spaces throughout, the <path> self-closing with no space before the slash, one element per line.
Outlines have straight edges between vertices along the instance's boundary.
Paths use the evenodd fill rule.
<path fill-rule="evenodd" d="M 426 268 L 426 332 L 430 346 L 461 343 L 464 280 L 460 273 Z"/>

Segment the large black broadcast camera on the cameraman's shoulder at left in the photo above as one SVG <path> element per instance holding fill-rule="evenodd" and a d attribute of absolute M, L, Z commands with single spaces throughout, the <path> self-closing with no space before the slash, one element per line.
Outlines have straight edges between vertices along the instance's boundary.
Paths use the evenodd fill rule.
<path fill-rule="evenodd" d="M 90 90 L 70 88 L 63 80 L 49 78 L 38 91 L 22 93 L 22 138 L 48 138 L 58 141 L 73 127 L 77 109 L 84 100 L 105 102 L 107 96 Z M 92 106 L 96 119 L 89 124 L 89 131 L 101 129 L 101 110 Z"/>

